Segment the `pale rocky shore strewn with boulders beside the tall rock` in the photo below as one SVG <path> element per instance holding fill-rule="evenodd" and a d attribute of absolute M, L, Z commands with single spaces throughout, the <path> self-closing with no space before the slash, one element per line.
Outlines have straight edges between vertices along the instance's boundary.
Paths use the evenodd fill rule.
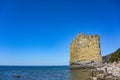
<path fill-rule="evenodd" d="M 91 70 L 90 80 L 120 80 L 120 63 L 105 63 Z"/>

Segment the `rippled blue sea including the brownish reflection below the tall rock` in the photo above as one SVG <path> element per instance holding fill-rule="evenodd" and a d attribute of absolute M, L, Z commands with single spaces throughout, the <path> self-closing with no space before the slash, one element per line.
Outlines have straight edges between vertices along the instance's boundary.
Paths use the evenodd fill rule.
<path fill-rule="evenodd" d="M 88 80 L 85 70 L 69 66 L 0 66 L 0 80 Z"/>

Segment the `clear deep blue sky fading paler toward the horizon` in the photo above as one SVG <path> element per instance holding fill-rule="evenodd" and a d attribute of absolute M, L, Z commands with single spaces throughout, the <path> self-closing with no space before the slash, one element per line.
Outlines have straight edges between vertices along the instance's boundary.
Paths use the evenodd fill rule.
<path fill-rule="evenodd" d="M 120 47 L 120 0 L 0 0 L 0 65 L 69 65 L 79 33 Z"/>

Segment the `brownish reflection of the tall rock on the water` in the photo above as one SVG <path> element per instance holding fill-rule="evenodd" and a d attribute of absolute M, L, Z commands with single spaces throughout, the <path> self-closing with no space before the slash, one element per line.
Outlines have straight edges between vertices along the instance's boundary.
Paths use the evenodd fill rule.
<path fill-rule="evenodd" d="M 89 80 L 90 70 L 70 70 L 70 80 Z"/>

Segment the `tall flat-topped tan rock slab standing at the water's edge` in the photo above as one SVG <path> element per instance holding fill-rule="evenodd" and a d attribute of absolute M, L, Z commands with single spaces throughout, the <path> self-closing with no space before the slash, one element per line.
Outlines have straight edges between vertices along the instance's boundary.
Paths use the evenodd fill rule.
<path fill-rule="evenodd" d="M 70 68 L 95 68 L 102 65 L 98 35 L 79 33 L 70 48 Z"/>

